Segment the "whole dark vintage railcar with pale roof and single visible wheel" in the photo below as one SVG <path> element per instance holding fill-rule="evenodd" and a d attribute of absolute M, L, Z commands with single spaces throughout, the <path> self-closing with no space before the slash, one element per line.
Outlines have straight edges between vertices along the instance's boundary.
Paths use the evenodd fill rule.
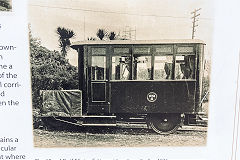
<path fill-rule="evenodd" d="M 146 123 L 160 134 L 194 124 L 202 112 L 204 45 L 195 39 L 75 42 L 79 90 L 53 91 L 67 115 L 45 117 L 80 126 Z M 43 94 L 46 103 L 50 94 Z"/>

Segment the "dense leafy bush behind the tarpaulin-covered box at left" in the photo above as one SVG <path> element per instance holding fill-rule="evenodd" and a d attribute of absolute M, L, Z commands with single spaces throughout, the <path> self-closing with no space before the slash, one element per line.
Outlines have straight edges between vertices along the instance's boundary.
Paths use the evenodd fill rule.
<path fill-rule="evenodd" d="M 72 66 L 58 51 L 41 46 L 30 35 L 33 107 L 38 108 L 40 90 L 77 89 L 77 67 Z"/>

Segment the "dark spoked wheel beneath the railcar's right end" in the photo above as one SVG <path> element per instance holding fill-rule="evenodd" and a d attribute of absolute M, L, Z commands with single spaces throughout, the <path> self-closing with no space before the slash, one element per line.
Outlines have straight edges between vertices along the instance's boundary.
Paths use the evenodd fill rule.
<path fill-rule="evenodd" d="M 149 115 L 148 125 L 159 134 L 171 134 L 180 127 L 180 114 L 154 114 Z"/>

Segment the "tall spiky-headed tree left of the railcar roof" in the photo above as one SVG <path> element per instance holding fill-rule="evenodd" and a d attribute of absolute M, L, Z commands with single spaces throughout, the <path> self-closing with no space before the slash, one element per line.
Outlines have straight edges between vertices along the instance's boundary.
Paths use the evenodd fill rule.
<path fill-rule="evenodd" d="M 66 57 L 67 50 L 71 45 L 70 38 L 75 37 L 75 33 L 64 27 L 58 27 L 56 33 L 58 34 L 59 47 L 61 48 L 62 56 Z"/>

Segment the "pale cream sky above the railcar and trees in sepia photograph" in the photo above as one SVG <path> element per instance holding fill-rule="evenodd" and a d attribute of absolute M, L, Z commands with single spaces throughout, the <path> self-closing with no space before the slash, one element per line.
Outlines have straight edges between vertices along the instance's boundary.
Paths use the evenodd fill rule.
<path fill-rule="evenodd" d="M 206 57 L 212 49 L 214 23 L 210 0 L 29 0 L 29 24 L 43 46 L 58 50 L 57 27 L 76 33 L 72 42 L 96 37 L 97 29 L 122 33 L 127 26 L 136 30 L 136 40 L 191 39 L 192 14 L 201 8 L 195 39 L 206 43 Z M 67 58 L 77 65 L 77 52 Z"/>

